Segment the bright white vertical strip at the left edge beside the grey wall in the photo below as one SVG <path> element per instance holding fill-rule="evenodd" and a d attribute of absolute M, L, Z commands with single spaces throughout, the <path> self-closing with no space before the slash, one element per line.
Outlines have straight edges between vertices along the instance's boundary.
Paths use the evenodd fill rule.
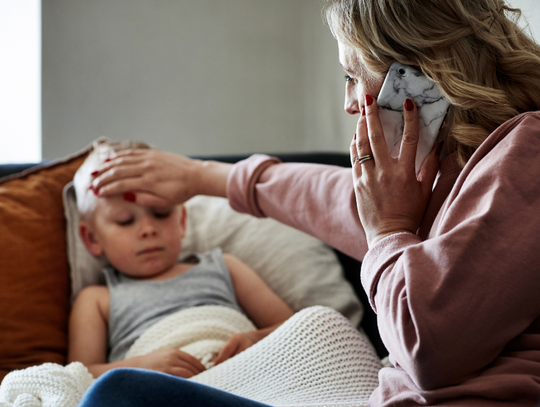
<path fill-rule="evenodd" d="M 0 0 L 0 164 L 41 160 L 41 1 Z"/>

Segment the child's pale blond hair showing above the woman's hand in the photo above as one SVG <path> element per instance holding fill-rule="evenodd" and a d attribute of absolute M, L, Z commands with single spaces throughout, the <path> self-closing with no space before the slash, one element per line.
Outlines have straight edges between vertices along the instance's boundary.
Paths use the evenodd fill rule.
<path fill-rule="evenodd" d="M 94 141 L 92 151 L 86 157 L 86 160 L 75 173 L 73 186 L 77 197 L 77 208 L 81 219 L 92 213 L 95 207 L 95 195 L 89 190 L 94 177 L 92 173 L 105 162 L 105 160 L 114 153 L 132 148 L 151 148 L 148 144 L 138 141 L 110 141 L 99 139 Z"/>

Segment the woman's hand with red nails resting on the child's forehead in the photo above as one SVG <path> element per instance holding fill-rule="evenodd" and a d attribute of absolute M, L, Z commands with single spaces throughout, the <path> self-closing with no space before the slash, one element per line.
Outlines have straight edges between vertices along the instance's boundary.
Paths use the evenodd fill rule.
<path fill-rule="evenodd" d="M 199 194 L 225 196 L 231 167 L 155 149 L 124 150 L 97 169 L 92 187 L 98 196 L 124 194 L 142 205 L 175 205 Z"/>

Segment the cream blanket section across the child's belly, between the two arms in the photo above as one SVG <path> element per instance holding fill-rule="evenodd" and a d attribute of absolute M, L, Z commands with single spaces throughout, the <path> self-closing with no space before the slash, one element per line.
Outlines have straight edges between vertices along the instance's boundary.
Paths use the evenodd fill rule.
<path fill-rule="evenodd" d="M 178 348 L 196 357 L 206 368 L 236 333 L 257 329 L 232 308 L 207 305 L 183 309 L 148 328 L 126 353 L 126 359 L 160 349 Z"/>

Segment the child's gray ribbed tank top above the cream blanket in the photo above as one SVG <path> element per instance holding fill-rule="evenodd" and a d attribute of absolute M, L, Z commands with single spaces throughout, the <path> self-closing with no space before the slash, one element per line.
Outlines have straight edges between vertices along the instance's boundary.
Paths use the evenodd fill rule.
<path fill-rule="evenodd" d="M 122 360 L 147 328 L 181 309 L 224 305 L 243 312 L 221 249 L 196 257 L 197 264 L 168 280 L 136 280 L 113 268 L 103 270 L 110 294 L 109 362 Z"/>

